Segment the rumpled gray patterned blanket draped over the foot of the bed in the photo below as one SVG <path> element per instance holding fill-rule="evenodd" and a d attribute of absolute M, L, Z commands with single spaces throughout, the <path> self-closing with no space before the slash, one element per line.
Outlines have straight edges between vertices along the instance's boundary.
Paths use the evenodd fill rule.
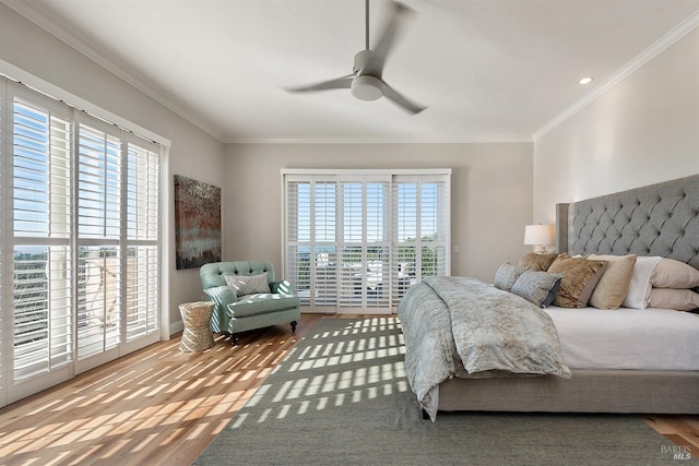
<path fill-rule="evenodd" d="M 454 377 L 570 378 L 548 314 L 477 279 L 425 278 L 410 288 L 398 314 L 407 379 L 433 420 L 439 403 L 435 387 Z"/>

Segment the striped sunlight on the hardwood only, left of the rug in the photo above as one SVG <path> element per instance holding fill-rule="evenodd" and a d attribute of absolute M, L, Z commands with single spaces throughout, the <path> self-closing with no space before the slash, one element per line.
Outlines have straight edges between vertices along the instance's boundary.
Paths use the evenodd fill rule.
<path fill-rule="evenodd" d="M 125 455 L 153 450 L 154 443 L 171 446 L 182 438 L 213 437 L 227 420 L 213 422 L 206 418 L 218 418 L 222 413 L 233 416 L 254 392 L 254 389 L 235 387 L 249 385 L 248 381 L 271 372 L 271 369 L 260 369 L 271 363 L 270 355 L 257 355 L 242 369 L 226 371 L 218 360 L 197 362 L 196 355 L 181 354 L 178 345 L 177 339 L 170 342 L 153 361 L 156 366 L 145 368 L 143 372 L 115 370 L 85 383 L 78 392 L 58 391 L 57 398 L 39 403 L 23 416 L 21 428 L 0 429 L 0 464 L 78 465 L 96 458 L 115 464 Z M 230 351 L 230 347 L 220 344 L 211 350 Z M 182 365 L 182 361 L 188 363 Z M 229 386 L 230 392 L 222 393 L 215 399 L 199 396 L 201 387 L 214 385 Z M 81 395 L 81 392 L 90 395 Z M 143 407 L 144 398 L 167 401 Z M 71 415 L 70 421 L 42 421 L 67 411 Z M 198 420 L 197 428 L 183 437 L 180 426 L 190 419 Z M 145 440 L 139 435 L 137 442 L 135 434 L 143 430 L 154 433 Z M 81 451 L 81 443 L 94 440 L 97 440 L 96 446 Z M 49 463 L 46 462 L 47 450 L 52 452 Z M 81 451 L 78 456 L 76 451 Z M 70 462 L 67 461 L 69 455 Z"/>

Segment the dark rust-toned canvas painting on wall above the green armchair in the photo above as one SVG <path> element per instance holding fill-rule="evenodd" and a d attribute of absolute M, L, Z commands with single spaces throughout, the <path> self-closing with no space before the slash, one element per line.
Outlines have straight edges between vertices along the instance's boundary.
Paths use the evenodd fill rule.
<path fill-rule="evenodd" d="M 221 261 L 221 188 L 175 175 L 177 270 Z"/>

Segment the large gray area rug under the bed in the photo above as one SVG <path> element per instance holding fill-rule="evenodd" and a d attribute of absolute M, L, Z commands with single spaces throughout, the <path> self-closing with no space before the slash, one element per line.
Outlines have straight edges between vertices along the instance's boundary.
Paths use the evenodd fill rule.
<path fill-rule="evenodd" d="M 318 322 L 197 465 L 670 465 L 635 416 L 440 413 L 424 420 L 398 320 Z"/>

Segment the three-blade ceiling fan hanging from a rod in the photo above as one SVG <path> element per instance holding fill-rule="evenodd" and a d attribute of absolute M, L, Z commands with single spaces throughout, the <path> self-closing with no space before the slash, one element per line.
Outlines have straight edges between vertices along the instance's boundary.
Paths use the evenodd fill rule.
<path fill-rule="evenodd" d="M 391 1 L 391 16 L 386 28 L 380 35 L 379 41 L 374 49 L 369 48 L 369 0 L 366 0 L 366 34 L 365 49 L 354 56 L 354 68 L 352 73 L 330 81 L 323 81 L 300 87 L 289 87 L 287 91 L 294 93 L 306 93 L 316 91 L 344 89 L 348 88 L 352 95 L 360 100 L 376 100 L 383 96 L 392 100 L 406 111 L 415 115 L 423 111 L 422 107 L 412 103 L 403 95 L 399 94 L 386 81 L 383 81 L 383 64 L 389 50 L 393 45 L 400 28 L 414 12 L 410 8 Z"/>

